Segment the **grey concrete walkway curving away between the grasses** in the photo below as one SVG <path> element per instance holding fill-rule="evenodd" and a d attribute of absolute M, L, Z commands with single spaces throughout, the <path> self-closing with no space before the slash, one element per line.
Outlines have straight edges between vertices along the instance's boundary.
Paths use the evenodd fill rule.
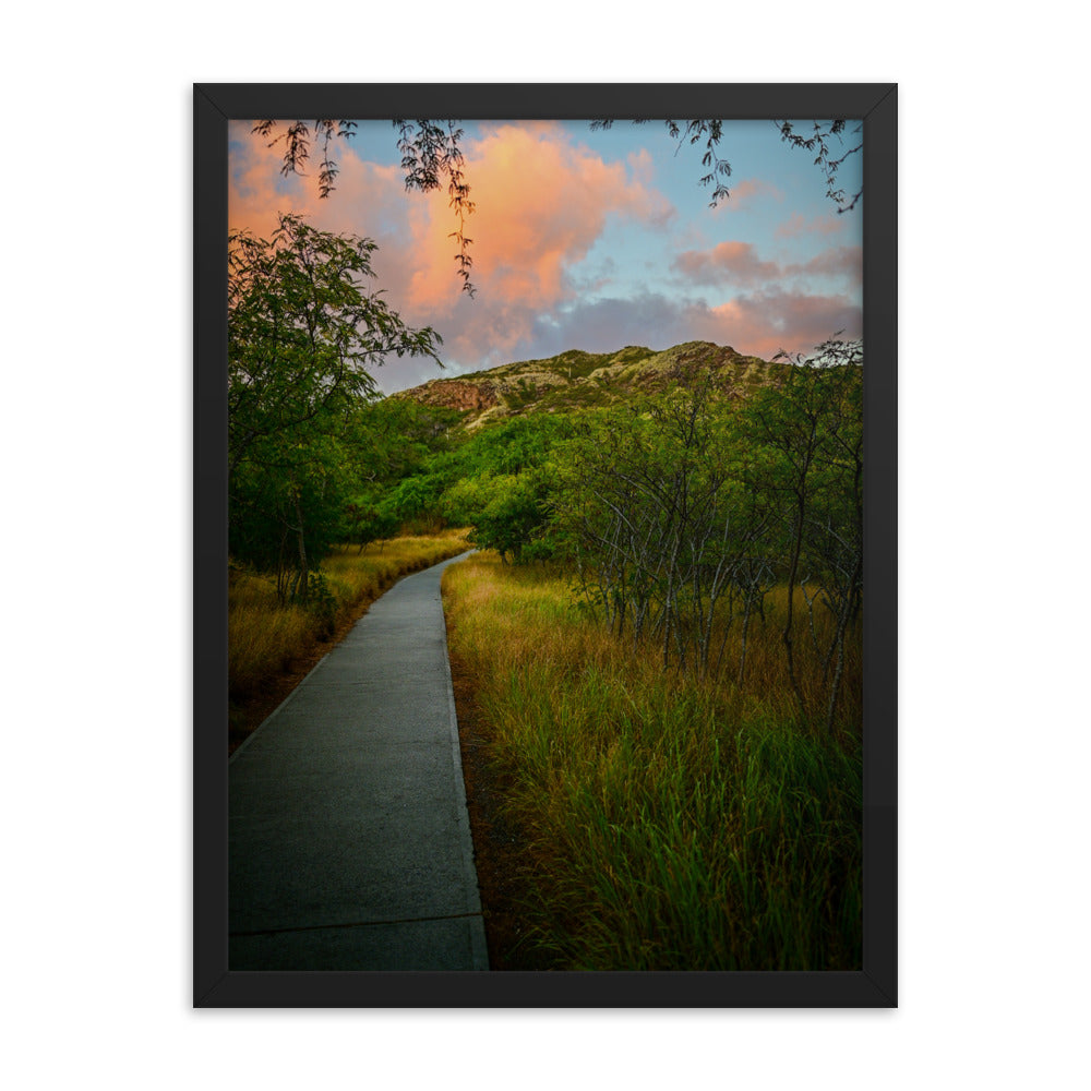
<path fill-rule="evenodd" d="M 488 970 L 440 603 L 457 560 L 373 603 L 231 758 L 230 970 Z"/>

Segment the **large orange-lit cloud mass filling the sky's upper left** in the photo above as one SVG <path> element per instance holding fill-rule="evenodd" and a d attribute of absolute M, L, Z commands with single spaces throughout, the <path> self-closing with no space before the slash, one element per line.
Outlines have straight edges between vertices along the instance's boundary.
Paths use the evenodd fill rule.
<path fill-rule="evenodd" d="M 298 212 L 324 230 L 367 235 L 380 249 L 374 267 L 387 300 L 412 325 L 434 325 L 445 358 L 492 365 L 530 337 L 538 317 L 587 290 L 573 267 L 587 256 L 611 216 L 652 228 L 674 214 L 651 185 L 652 160 L 638 149 L 626 163 L 607 163 L 572 142 L 554 122 L 495 123 L 479 140 L 464 141 L 465 178 L 476 205 L 463 226 L 477 295 L 456 276 L 458 221 L 444 188 L 406 194 L 400 170 L 380 167 L 356 137 L 339 144 L 334 193 L 317 195 L 314 177 L 280 178 L 280 151 L 232 131 L 241 151 L 232 158 L 229 215 L 232 228 L 267 237 L 276 213 Z M 382 139 L 371 130 L 367 140 Z M 393 131 L 387 137 L 396 140 Z M 384 149 L 387 151 L 388 149 Z M 316 158 L 312 154 L 312 175 Z"/>

